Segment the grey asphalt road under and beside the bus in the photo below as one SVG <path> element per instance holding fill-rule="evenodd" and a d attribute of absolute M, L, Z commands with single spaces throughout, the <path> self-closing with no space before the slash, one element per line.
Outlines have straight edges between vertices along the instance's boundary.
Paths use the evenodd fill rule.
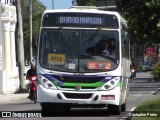
<path fill-rule="evenodd" d="M 127 98 L 127 112 L 122 112 L 121 115 L 110 115 L 107 108 L 93 109 L 93 108 L 74 108 L 68 113 L 60 113 L 50 117 L 40 118 L 41 107 L 40 104 L 34 104 L 28 99 L 17 101 L 11 104 L 0 105 L 0 111 L 33 111 L 37 113 L 38 120 L 117 120 L 126 119 L 127 115 L 142 101 L 146 99 L 160 98 L 159 95 L 152 94 L 153 91 L 160 87 L 160 83 L 151 81 L 152 76 L 147 73 L 137 73 L 137 78 L 130 83 L 129 96 Z M 16 117 L 16 114 L 15 116 Z M 34 120 L 30 118 L 0 118 L 1 120 Z"/>

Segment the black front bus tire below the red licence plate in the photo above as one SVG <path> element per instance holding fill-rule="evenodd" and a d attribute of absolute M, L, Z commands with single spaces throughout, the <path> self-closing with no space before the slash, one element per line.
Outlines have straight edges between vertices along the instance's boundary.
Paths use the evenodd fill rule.
<path fill-rule="evenodd" d="M 108 111 L 113 115 L 121 114 L 121 105 L 108 105 Z"/>

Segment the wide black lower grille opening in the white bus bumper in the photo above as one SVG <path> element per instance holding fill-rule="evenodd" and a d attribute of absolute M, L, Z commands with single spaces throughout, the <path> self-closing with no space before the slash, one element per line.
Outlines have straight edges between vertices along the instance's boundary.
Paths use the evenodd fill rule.
<path fill-rule="evenodd" d="M 92 96 L 92 93 L 63 93 L 66 98 L 69 99 L 90 99 Z"/>

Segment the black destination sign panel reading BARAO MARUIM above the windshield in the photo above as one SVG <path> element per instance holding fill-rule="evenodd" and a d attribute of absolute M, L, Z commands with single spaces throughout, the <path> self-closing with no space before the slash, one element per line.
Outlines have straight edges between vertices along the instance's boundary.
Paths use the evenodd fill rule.
<path fill-rule="evenodd" d="M 118 28 L 115 15 L 96 13 L 46 13 L 43 27 L 107 27 Z"/>

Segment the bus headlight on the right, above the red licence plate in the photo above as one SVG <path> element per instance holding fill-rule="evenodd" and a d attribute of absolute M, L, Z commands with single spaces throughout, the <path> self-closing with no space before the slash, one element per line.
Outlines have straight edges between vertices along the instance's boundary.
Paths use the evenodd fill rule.
<path fill-rule="evenodd" d="M 99 90 L 112 90 L 119 83 L 120 77 L 115 77 L 112 80 L 105 83 Z"/>

